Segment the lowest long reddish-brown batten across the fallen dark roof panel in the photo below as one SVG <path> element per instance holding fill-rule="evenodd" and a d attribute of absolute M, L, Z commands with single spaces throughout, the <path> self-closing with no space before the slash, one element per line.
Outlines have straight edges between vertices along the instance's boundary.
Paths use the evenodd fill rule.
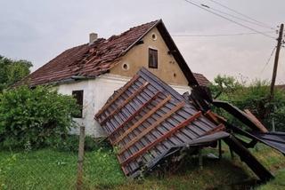
<path fill-rule="evenodd" d="M 183 123 L 179 123 L 178 125 L 176 125 L 173 129 L 171 129 L 170 131 L 167 131 L 163 136 L 161 136 L 159 139 L 156 139 L 155 141 L 151 142 L 149 145 L 144 146 L 141 150 L 139 150 L 138 152 L 136 152 L 135 154 L 129 156 L 124 162 L 121 162 L 121 165 L 126 165 L 127 163 L 131 162 L 132 160 L 134 160 L 136 157 L 140 156 L 141 154 L 147 152 L 148 150 L 150 150 L 153 146 L 158 145 L 160 142 L 162 142 L 163 140 L 169 138 L 171 135 L 173 135 L 176 131 L 182 129 L 183 127 L 186 127 L 189 123 L 195 121 L 200 115 L 202 115 L 201 111 L 197 112 L 195 115 L 192 115 L 191 117 L 189 117 L 188 119 L 186 119 L 185 121 L 183 121 Z"/>

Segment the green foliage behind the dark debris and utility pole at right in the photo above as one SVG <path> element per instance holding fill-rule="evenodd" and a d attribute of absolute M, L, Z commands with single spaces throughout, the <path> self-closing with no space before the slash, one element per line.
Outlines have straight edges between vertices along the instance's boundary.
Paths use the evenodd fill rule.
<path fill-rule="evenodd" d="M 277 130 L 285 131 L 285 91 L 276 88 L 271 101 L 268 82 L 256 80 L 245 85 L 226 75 L 218 75 L 210 88 L 214 96 L 217 91 L 222 91 L 218 99 L 229 101 L 241 110 L 249 109 L 268 129 L 271 129 L 274 118 Z M 226 115 L 234 124 L 240 124 L 231 115 L 222 111 L 219 114 Z"/>

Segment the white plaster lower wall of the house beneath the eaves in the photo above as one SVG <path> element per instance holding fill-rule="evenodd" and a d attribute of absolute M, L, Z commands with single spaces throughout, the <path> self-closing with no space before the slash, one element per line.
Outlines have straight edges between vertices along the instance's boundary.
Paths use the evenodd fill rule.
<path fill-rule="evenodd" d="M 104 136 L 104 132 L 99 123 L 94 120 L 94 115 L 106 103 L 107 99 L 122 87 L 130 78 L 120 75 L 105 74 L 96 79 L 85 80 L 77 83 L 65 83 L 57 86 L 58 92 L 61 94 L 71 95 L 72 91 L 83 90 L 83 117 L 75 118 L 78 125 L 85 126 L 87 135 L 95 138 Z M 173 86 L 172 87 L 183 94 L 185 91 L 191 91 L 189 86 Z M 71 133 L 78 134 L 78 128 L 73 129 Z"/>

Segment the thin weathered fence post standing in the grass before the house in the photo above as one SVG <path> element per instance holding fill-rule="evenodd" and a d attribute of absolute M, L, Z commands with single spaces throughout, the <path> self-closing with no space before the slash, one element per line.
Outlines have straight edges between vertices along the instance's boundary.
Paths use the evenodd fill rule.
<path fill-rule="evenodd" d="M 77 190 L 83 189 L 83 162 L 84 162 L 85 127 L 80 126 L 78 164 L 77 164 Z"/>

